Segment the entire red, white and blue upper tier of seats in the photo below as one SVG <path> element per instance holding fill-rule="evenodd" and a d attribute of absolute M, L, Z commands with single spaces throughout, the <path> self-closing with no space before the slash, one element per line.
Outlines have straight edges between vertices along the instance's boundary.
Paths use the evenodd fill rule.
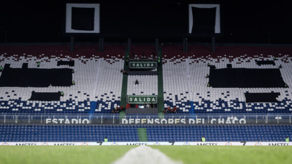
<path fill-rule="evenodd" d="M 111 109 L 120 105 L 121 79 L 119 70 L 123 67 L 124 47 L 120 45 L 106 45 L 105 52 L 97 52 L 92 45 L 76 46 L 76 52 L 68 51 L 67 46 L 2 46 L 1 64 L 10 64 L 12 68 L 22 68 L 28 63 L 28 68 L 36 68 L 36 61 L 40 61 L 40 68 L 70 68 L 74 69 L 72 79 L 76 82 L 70 87 L 21 87 L 11 89 L 2 87 L 2 113 L 110 113 Z M 148 51 L 145 51 L 148 50 Z M 153 53 L 152 46 L 137 46 L 134 53 L 142 51 Z M 279 54 L 285 54 L 281 55 Z M 164 107 L 177 106 L 177 113 L 290 113 L 292 90 L 290 88 L 213 88 L 206 87 L 210 74 L 207 63 L 215 65 L 217 69 L 226 68 L 232 64 L 233 68 L 278 68 L 283 81 L 290 86 L 289 48 L 263 48 L 222 46 L 216 53 L 210 52 L 205 46 L 193 45 L 189 53 L 181 51 L 177 45 L 163 45 L 163 89 Z M 82 55 L 78 55 L 78 53 Z M 92 54 L 96 55 L 92 55 Z M 148 54 L 149 54 L 148 53 Z M 258 54 L 259 53 L 259 54 Z M 260 54 L 261 53 L 261 54 Z M 64 54 L 64 55 L 63 55 Z M 65 55 L 66 54 L 66 55 Z M 109 55 L 111 54 L 111 55 Z M 194 55 L 196 54 L 196 55 Z M 198 54 L 198 55 L 197 55 Z M 210 55 L 206 55 L 210 54 Z M 233 55 L 231 55 L 233 54 Z M 256 55 L 257 54 L 257 55 Z M 270 54 L 270 55 L 269 55 Z M 220 55 L 220 56 L 219 56 Z M 272 61 L 272 64 L 258 64 L 257 61 Z M 58 65 L 58 62 L 74 61 L 74 66 Z M 5 73 L 5 69 L 4 69 Z M 142 77 L 147 78 L 143 80 Z M 133 79 L 132 79 L 133 78 Z M 106 79 L 106 80 L 105 80 Z M 128 77 L 128 95 L 157 95 L 156 76 L 141 76 L 140 84 L 134 85 L 136 76 Z M 151 80 L 150 80 L 151 79 Z M 154 80 L 154 81 L 153 81 Z M 152 82 L 153 81 L 153 82 Z M 147 84 L 145 84 L 147 83 Z M 92 85 L 95 84 L 95 85 Z M 150 84 L 154 87 L 149 87 Z M 143 89 L 141 89 L 143 88 Z M 96 90 L 96 92 L 94 92 Z M 60 102 L 28 101 L 31 91 L 59 92 L 65 95 Z M 279 92 L 278 102 L 245 103 L 244 93 Z M 74 110 L 74 108 L 76 110 Z M 93 108 L 91 110 L 91 108 Z M 27 110 L 26 110 L 27 109 Z"/>

